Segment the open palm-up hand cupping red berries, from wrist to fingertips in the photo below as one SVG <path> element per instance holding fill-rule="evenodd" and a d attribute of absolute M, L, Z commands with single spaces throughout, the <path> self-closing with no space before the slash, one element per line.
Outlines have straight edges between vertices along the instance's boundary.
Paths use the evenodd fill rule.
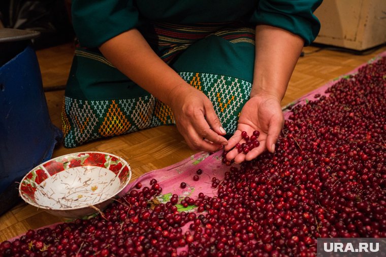
<path fill-rule="evenodd" d="M 246 131 L 250 136 L 254 130 L 260 131 L 258 141 L 260 145 L 253 148 L 246 155 L 238 153 L 237 149 L 227 154 L 227 160 L 234 160 L 241 163 L 244 160 L 250 161 L 263 153 L 265 150 L 273 153 L 275 143 L 279 137 L 284 124 L 284 117 L 281 111 L 280 99 L 272 95 L 255 95 L 251 97 L 241 110 L 237 130 L 229 139 L 224 150 L 230 151 L 236 143 L 244 143 L 241 132 Z"/>

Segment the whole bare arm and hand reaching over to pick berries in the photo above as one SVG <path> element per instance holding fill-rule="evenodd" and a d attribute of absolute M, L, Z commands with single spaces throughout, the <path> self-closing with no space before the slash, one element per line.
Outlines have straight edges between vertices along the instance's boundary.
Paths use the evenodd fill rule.
<path fill-rule="evenodd" d="M 178 131 L 190 148 L 214 152 L 227 144 L 208 97 L 161 60 L 137 29 L 115 36 L 99 49 L 124 75 L 172 108 Z"/>

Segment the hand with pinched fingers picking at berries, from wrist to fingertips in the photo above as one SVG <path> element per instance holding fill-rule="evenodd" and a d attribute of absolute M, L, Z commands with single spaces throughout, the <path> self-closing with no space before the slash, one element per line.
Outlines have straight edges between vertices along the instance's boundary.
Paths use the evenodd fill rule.
<path fill-rule="evenodd" d="M 168 104 L 178 131 L 191 149 L 215 152 L 227 145 L 227 139 L 221 136 L 226 131 L 221 127 L 212 102 L 203 92 L 185 83 L 175 87 Z"/>

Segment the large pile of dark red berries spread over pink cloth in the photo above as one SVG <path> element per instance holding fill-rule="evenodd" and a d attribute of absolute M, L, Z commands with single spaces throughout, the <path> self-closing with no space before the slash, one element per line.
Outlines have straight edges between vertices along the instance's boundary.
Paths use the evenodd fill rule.
<path fill-rule="evenodd" d="M 318 237 L 386 237 L 386 58 L 328 93 L 292 109 L 274 154 L 213 178 L 215 197 L 154 205 L 152 180 L 103 215 L 5 241 L 0 255 L 314 256 Z"/>

